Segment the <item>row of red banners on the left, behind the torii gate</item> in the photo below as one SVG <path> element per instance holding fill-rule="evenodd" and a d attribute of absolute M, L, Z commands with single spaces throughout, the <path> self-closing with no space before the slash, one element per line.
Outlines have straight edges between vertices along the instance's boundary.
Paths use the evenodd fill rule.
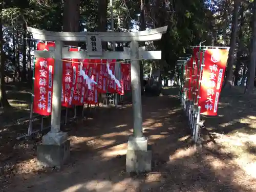
<path fill-rule="evenodd" d="M 49 47 L 55 47 L 54 42 L 48 44 L 39 42 L 37 50 L 49 51 Z M 69 51 L 78 51 L 78 48 L 70 48 Z M 115 75 L 115 59 L 63 59 L 62 70 L 62 94 L 61 105 L 70 108 L 73 105 L 97 104 L 98 95 L 101 93 L 118 93 L 124 95 L 125 91 L 131 91 L 131 65 L 121 63 L 121 88 L 109 75 L 109 69 Z M 33 111 L 40 115 L 51 115 L 52 93 L 53 93 L 53 58 L 37 58 L 34 69 L 34 101 Z M 88 86 L 87 79 L 84 79 L 80 70 L 90 78 Z"/>

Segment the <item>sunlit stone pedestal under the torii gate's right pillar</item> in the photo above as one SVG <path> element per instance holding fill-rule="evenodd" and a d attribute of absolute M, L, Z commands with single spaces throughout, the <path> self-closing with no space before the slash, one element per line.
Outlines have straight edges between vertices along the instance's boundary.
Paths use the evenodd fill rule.
<path fill-rule="evenodd" d="M 152 151 L 147 148 L 147 138 L 130 137 L 126 153 L 126 172 L 151 172 Z"/>

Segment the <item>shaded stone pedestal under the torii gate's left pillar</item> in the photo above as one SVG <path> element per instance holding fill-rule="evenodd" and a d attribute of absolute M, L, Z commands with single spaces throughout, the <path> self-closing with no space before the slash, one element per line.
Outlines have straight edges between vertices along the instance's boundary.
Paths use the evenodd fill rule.
<path fill-rule="evenodd" d="M 51 133 L 42 137 L 42 144 L 37 145 L 38 164 L 46 167 L 58 167 L 70 157 L 70 140 L 67 133 Z"/>

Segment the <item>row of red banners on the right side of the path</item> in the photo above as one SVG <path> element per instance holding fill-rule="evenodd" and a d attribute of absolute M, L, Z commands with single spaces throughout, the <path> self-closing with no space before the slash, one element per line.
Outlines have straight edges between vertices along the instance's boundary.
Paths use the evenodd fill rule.
<path fill-rule="evenodd" d="M 217 115 L 227 58 L 227 49 L 200 50 L 196 47 L 186 62 L 183 91 L 188 100 L 198 102 L 203 115 Z"/>

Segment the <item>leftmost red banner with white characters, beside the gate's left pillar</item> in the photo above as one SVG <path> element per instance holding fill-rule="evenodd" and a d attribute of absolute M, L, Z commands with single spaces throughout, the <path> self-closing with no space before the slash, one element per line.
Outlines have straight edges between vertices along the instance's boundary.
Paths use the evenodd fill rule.
<path fill-rule="evenodd" d="M 55 44 L 53 42 L 48 44 L 39 42 L 37 44 L 37 50 L 49 51 L 49 47 L 55 47 Z M 51 115 L 54 59 L 37 58 L 34 70 L 34 113 L 45 116 Z"/>

